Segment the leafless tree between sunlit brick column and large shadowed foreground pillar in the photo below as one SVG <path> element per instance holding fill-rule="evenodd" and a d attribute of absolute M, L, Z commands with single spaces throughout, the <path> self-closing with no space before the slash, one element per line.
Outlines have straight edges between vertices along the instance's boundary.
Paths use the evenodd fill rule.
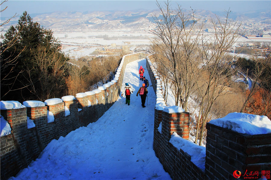
<path fill-rule="evenodd" d="M 210 119 L 210 110 L 214 102 L 219 96 L 228 93 L 230 84 L 234 82 L 232 77 L 235 75 L 236 69 L 232 68 L 230 64 L 232 58 L 228 56 L 227 52 L 238 39 L 240 25 L 229 19 L 229 14 L 230 11 L 228 10 L 223 20 L 219 19 L 218 16 L 211 20 L 215 30 L 213 37 L 207 39 L 202 35 L 201 44 L 198 44 L 201 66 L 198 62 L 191 63 L 191 67 L 198 67 L 191 68 L 191 71 L 201 99 L 195 139 L 196 143 L 200 131 L 199 145 L 202 143 L 205 125 Z M 202 123 L 201 126 L 200 123 Z"/>

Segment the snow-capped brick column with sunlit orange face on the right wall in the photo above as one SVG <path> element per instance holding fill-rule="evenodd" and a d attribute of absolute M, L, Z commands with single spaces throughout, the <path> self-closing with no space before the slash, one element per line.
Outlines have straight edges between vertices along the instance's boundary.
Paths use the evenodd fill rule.
<path fill-rule="evenodd" d="M 173 106 L 174 108 L 178 108 Z M 162 135 L 166 140 L 170 140 L 171 135 L 176 132 L 183 139 L 189 137 L 189 113 L 169 113 L 167 110 L 172 107 L 166 107 L 162 113 Z M 179 107 L 180 108 L 180 107 Z"/>

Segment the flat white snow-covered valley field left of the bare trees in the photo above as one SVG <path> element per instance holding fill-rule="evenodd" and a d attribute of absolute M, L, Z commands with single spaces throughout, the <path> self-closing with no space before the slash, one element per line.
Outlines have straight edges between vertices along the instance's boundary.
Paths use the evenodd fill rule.
<path fill-rule="evenodd" d="M 118 37 L 118 39 L 109 39 Z M 66 55 L 89 56 L 95 49 L 116 44 L 116 46 L 145 46 L 150 44 L 151 34 L 132 31 L 88 31 L 88 32 L 54 32 L 55 38 L 63 45 Z"/>

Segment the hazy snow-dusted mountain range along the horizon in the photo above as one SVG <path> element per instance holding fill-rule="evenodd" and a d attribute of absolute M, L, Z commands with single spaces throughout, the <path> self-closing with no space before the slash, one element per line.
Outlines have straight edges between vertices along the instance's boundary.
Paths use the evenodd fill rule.
<path fill-rule="evenodd" d="M 187 14 L 188 10 L 183 9 Z M 58 31 L 82 31 L 82 30 L 142 30 L 145 28 L 154 28 L 153 15 L 162 19 L 159 10 L 137 9 L 131 11 L 86 11 L 86 12 L 50 12 L 40 14 L 30 14 L 33 21 L 39 22 L 46 29 Z M 225 13 L 209 10 L 196 10 L 196 16 L 206 19 L 206 27 L 210 26 L 210 18 L 216 18 L 216 15 L 223 18 Z M 251 12 L 234 13 L 231 12 L 230 18 L 238 21 L 251 20 L 251 22 L 271 24 L 270 12 Z M 5 18 L 1 17 L 1 21 Z M 7 26 L 16 25 L 19 17 L 11 19 Z"/>

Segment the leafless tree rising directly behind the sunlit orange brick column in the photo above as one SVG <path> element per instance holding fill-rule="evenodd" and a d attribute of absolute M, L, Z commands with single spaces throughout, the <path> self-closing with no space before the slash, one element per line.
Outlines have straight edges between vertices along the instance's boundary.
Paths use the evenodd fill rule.
<path fill-rule="evenodd" d="M 188 62 L 197 58 L 196 45 L 203 21 L 195 17 L 194 10 L 184 13 L 179 5 L 177 10 L 173 10 L 169 1 L 165 2 L 164 7 L 157 2 L 157 6 L 163 18 L 154 17 L 157 28 L 149 30 L 157 37 L 153 41 L 155 48 L 152 50 L 162 57 L 157 59 L 157 64 L 164 69 L 160 74 L 164 73 L 163 76 L 167 76 L 176 86 L 176 106 L 180 100 L 180 105 L 187 111 L 188 98 L 195 85 Z"/>

